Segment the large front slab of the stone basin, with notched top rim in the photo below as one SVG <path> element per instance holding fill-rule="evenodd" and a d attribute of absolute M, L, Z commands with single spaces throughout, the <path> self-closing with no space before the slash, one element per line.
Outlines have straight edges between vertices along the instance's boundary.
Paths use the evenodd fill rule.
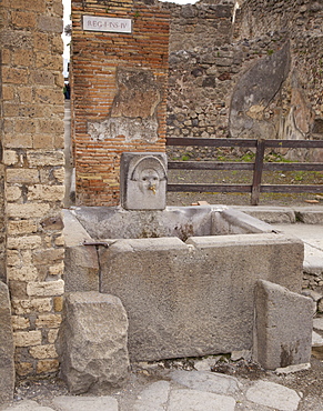
<path fill-rule="evenodd" d="M 129 315 L 132 360 L 250 350 L 259 279 L 301 291 L 303 243 L 282 234 L 117 240 L 101 291 Z"/>

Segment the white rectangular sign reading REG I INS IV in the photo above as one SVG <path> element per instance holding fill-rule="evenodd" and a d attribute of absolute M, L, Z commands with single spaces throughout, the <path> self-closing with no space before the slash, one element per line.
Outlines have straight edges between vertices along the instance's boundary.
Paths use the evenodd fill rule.
<path fill-rule="evenodd" d="M 83 30 L 131 33 L 132 20 L 100 16 L 83 16 Z"/>

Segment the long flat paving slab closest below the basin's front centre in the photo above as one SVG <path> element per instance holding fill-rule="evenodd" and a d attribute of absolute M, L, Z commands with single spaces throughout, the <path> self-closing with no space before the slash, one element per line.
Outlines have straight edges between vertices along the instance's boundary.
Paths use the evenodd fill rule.
<path fill-rule="evenodd" d="M 173 381 L 193 390 L 208 391 L 216 394 L 234 394 L 240 383 L 234 377 L 216 372 L 175 370 L 170 373 Z"/>

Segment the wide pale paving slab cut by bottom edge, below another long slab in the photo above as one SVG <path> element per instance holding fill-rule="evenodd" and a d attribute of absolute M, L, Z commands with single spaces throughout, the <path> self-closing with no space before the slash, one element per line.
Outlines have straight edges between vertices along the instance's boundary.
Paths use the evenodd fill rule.
<path fill-rule="evenodd" d="M 198 390 L 172 390 L 168 411 L 234 411 L 234 409 L 235 400 L 232 397 Z"/>

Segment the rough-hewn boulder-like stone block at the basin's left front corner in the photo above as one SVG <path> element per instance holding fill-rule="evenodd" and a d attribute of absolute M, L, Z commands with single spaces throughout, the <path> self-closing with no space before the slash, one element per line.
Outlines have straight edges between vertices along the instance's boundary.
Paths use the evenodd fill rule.
<path fill-rule="evenodd" d="M 72 393 L 99 393 L 124 382 L 127 333 L 127 313 L 117 297 L 93 291 L 67 294 L 55 345 L 61 378 Z"/>

